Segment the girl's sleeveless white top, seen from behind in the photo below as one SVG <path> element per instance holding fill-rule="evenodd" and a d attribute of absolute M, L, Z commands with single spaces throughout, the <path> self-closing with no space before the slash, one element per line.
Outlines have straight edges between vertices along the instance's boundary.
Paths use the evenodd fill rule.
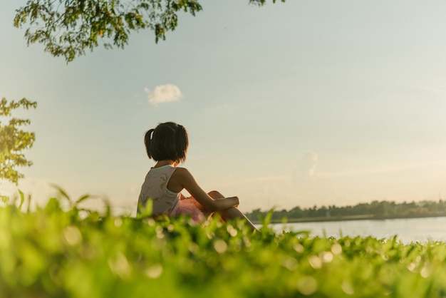
<path fill-rule="evenodd" d="M 138 214 L 152 200 L 152 215 L 175 215 L 180 202 L 181 192 L 172 192 L 167 189 L 170 177 L 177 168 L 172 165 L 163 165 L 159 168 L 150 168 L 142 183 L 140 197 L 138 198 Z"/>

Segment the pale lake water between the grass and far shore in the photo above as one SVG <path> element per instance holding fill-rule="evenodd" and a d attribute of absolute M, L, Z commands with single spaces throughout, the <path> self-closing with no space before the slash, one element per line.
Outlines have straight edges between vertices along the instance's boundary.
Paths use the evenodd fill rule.
<path fill-rule="evenodd" d="M 310 231 L 312 236 L 372 236 L 391 238 L 403 243 L 438 240 L 446 242 L 446 217 L 407 218 L 394 220 L 346 220 L 338 222 L 295 222 L 271 225 L 276 232 Z"/>

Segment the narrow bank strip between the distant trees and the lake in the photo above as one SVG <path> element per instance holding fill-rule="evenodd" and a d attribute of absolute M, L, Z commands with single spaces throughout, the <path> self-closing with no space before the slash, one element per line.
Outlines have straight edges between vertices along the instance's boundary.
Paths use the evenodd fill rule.
<path fill-rule="evenodd" d="M 446 213 L 431 214 L 431 215 L 392 215 L 392 216 L 376 216 L 376 215 L 351 215 L 351 216 L 337 216 L 337 217 L 302 217 L 302 218 L 287 218 L 286 220 L 271 220 L 271 224 L 280 223 L 296 223 L 296 222 L 341 222 L 348 220 L 400 220 L 410 218 L 427 218 L 427 217 L 446 217 Z M 260 225 L 259 220 L 251 220 L 254 224 Z"/>

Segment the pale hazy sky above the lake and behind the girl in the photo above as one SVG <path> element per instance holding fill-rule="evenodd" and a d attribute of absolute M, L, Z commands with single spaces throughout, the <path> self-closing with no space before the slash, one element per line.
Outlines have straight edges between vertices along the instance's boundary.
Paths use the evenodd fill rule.
<path fill-rule="evenodd" d="M 68 65 L 12 26 L 25 3 L 0 4 L 0 96 L 38 102 L 18 113 L 36 202 L 54 183 L 134 210 L 143 135 L 170 120 L 197 182 L 244 211 L 446 196 L 444 1 L 204 1 L 166 41 L 140 31 Z M 162 86 L 176 101 L 150 103 Z"/>

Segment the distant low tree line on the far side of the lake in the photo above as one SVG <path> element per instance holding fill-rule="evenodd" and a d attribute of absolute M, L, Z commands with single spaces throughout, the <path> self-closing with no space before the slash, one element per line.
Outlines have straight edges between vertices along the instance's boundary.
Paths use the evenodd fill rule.
<path fill-rule="evenodd" d="M 252 210 L 247 213 L 250 220 L 258 221 L 265 217 L 269 210 Z M 335 205 L 301 208 L 296 206 L 291 210 L 274 210 L 271 221 L 278 222 L 286 218 L 292 221 L 317 221 L 365 218 L 403 218 L 403 217 L 432 217 L 446 216 L 446 201 L 402 202 L 373 201 L 354 206 L 337 207 Z"/>

